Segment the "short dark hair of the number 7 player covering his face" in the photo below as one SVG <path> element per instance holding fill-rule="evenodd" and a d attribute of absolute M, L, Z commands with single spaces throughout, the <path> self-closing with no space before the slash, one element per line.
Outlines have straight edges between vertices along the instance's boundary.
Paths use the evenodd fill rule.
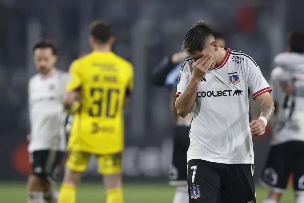
<path fill-rule="evenodd" d="M 212 30 L 205 21 L 201 20 L 188 30 L 181 49 L 192 55 L 195 51 L 202 51 L 214 40 Z"/>

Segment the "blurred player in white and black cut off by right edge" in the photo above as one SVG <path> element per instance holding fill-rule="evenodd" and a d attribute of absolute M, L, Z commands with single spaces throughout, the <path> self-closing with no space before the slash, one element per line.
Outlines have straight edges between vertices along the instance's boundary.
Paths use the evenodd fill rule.
<path fill-rule="evenodd" d="M 293 173 L 295 203 L 304 202 L 304 32 L 288 36 L 288 52 L 275 57 L 271 72 L 275 102 L 270 152 L 261 180 L 269 188 L 263 203 L 278 203 Z"/>

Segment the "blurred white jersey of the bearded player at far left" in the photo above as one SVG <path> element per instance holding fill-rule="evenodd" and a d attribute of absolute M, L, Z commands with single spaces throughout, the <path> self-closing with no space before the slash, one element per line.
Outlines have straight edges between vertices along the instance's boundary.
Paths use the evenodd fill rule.
<path fill-rule="evenodd" d="M 63 96 L 67 73 L 57 71 L 48 78 L 36 74 L 29 80 L 29 119 L 31 141 L 29 152 L 64 151 L 66 147 Z"/>

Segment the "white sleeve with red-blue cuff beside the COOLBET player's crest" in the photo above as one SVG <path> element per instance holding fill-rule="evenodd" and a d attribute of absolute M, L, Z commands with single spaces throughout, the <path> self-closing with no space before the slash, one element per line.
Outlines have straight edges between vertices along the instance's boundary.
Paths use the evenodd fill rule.
<path fill-rule="evenodd" d="M 260 67 L 257 63 L 250 57 L 248 58 L 248 72 L 247 72 L 247 81 L 248 87 L 252 92 L 252 97 L 255 98 L 265 92 L 271 92 L 271 88 L 264 78 Z"/>

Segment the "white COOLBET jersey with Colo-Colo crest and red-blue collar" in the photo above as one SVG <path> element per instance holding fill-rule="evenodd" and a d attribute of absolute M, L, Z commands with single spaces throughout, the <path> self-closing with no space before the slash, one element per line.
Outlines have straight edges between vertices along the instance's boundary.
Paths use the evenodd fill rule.
<path fill-rule="evenodd" d="M 222 63 L 201 80 L 189 133 L 187 160 L 216 163 L 254 163 L 249 127 L 249 90 L 253 99 L 271 88 L 257 63 L 241 51 L 225 48 Z M 186 88 L 194 61 L 189 56 L 181 67 L 179 96 Z"/>

